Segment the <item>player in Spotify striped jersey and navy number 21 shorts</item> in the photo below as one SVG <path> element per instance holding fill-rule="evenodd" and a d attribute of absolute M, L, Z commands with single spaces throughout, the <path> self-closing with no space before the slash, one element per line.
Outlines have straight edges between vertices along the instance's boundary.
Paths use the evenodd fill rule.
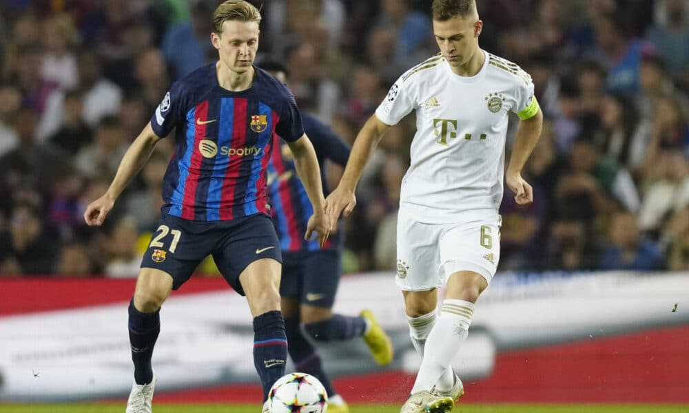
<path fill-rule="evenodd" d="M 213 14 L 216 63 L 172 85 L 125 153 L 107 192 L 84 213 L 100 225 L 116 198 L 149 158 L 158 140 L 176 130 L 163 182 L 162 217 L 141 263 L 129 307 L 134 384 L 127 413 L 150 413 L 156 377 L 151 358 L 159 311 L 173 289 L 212 255 L 223 277 L 246 295 L 254 317 L 254 366 L 263 399 L 285 373 L 287 337 L 280 313 L 280 243 L 269 216 L 266 170 L 278 134 L 287 141 L 313 215 L 306 236 L 329 235 L 320 168 L 287 87 L 254 66 L 258 10 L 227 0 Z M 265 408 L 265 403 L 264 403 Z"/>

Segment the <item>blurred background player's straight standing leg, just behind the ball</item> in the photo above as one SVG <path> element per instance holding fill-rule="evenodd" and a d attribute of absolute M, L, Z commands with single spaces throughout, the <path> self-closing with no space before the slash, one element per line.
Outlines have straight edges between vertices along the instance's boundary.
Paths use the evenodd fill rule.
<path fill-rule="evenodd" d="M 285 317 L 287 352 L 298 372 L 311 374 L 325 387 L 328 399 L 337 400 L 337 394 L 322 367 L 320 355 L 307 340 L 301 327 L 300 300 L 304 282 L 304 255 L 302 253 L 282 253 L 282 279 L 280 297 L 282 317 Z"/>

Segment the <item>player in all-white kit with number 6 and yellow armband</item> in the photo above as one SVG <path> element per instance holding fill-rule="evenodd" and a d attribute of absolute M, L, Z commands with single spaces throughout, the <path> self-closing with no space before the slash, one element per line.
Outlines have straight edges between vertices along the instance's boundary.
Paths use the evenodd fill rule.
<path fill-rule="evenodd" d="M 334 225 L 390 125 L 416 111 L 411 166 L 402 180 L 397 277 L 422 363 L 403 413 L 449 412 L 464 393 L 450 362 L 466 339 L 475 303 L 500 259 L 503 173 L 518 204 L 533 201 L 521 171 L 542 113 L 531 76 L 478 45 L 475 0 L 434 0 L 440 54 L 407 70 L 359 132 L 338 187 L 326 201 Z M 504 171 L 508 114 L 520 123 Z M 438 288 L 446 286 L 440 315 Z"/>

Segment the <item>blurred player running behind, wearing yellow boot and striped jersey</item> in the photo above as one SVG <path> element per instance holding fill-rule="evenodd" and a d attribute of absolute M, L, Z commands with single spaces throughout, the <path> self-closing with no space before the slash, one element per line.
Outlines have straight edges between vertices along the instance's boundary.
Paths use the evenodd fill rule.
<path fill-rule="evenodd" d="M 287 83 L 289 71 L 276 61 L 259 65 Z M 349 145 L 314 116 L 302 114 L 304 130 L 313 143 L 320 165 L 323 192 L 327 193 L 325 161 L 331 160 L 341 167 L 347 164 Z M 370 310 L 358 317 L 332 313 L 332 306 L 342 275 L 342 231 L 331 235 L 322 248 L 313 240 L 304 240 L 306 225 L 313 207 L 305 188 L 294 174 L 294 155 L 288 145 L 274 137 L 274 151 L 268 165 L 268 186 L 273 221 L 282 248 L 282 315 L 285 317 L 287 350 L 297 371 L 315 376 L 328 392 L 328 411 L 348 412 L 342 397 L 336 392 L 316 348 L 306 339 L 304 332 L 316 341 L 346 340 L 362 337 L 373 359 L 381 366 L 392 361 L 392 343 L 380 328 Z M 303 324 L 304 332 L 300 324 Z"/>

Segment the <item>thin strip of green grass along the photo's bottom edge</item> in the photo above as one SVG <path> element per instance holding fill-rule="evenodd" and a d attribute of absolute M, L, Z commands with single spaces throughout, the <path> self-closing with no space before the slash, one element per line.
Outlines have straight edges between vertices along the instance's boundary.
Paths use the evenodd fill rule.
<path fill-rule="evenodd" d="M 398 413 L 398 405 L 350 405 L 351 413 Z M 118 404 L 3 405 L 1 413 L 122 413 Z M 166 405 L 154 407 L 156 413 L 258 413 L 259 405 Z M 456 405 L 453 413 L 680 413 L 689 405 Z"/>

